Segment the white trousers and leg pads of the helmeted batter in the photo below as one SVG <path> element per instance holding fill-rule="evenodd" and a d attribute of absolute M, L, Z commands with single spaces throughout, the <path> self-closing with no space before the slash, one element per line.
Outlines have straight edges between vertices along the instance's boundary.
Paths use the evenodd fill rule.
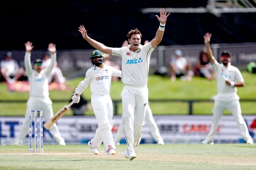
<path fill-rule="evenodd" d="M 96 129 L 95 136 L 91 140 L 91 148 L 99 148 L 100 144 L 103 142 L 105 152 L 107 152 L 109 148 L 116 150 L 111 131 L 114 121 L 111 120 L 113 117 L 113 103 L 110 96 L 92 97 L 91 104 L 99 126 Z"/>

